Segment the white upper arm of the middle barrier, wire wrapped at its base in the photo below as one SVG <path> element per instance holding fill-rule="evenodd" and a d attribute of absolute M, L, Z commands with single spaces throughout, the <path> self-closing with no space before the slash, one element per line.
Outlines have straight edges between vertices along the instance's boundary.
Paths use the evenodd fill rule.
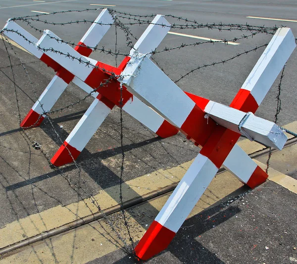
<path fill-rule="evenodd" d="M 169 29 L 170 24 L 165 19 L 165 17 L 163 15 L 156 15 L 148 25 L 145 32 L 134 45 L 134 49 L 130 51 L 130 56 L 135 53 L 135 50 L 142 54 L 151 53 L 154 51 L 165 38 Z M 150 55 L 151 54 L 148 54 L 147 56 L 150 57 Z"/>

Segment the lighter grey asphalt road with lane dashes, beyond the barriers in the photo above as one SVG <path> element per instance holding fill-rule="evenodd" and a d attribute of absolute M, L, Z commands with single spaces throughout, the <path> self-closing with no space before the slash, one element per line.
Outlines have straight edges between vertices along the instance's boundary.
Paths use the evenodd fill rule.
<path fill-rule="evenodd" d="M 165 1 L 165 0 L 143 0 L 143 1 L 108 1 L 93 2 L 82 0 L 67 0 L 57 2 L 33 2 L 33 1 L 1 1 L 0 6 L 0 24 L 4 25 L 5 20 L 14 16 L 36 15 L 37 13 L 31 10 L 41 12 L 54 12 L 69 9 L 81 10 L 84 8 L 96 8 L 103 6 L 92 6 L 91 3 L 116 5 L 118 11 L 130 12 L 132 14 L 146 15 L 151 13 L 172 14 L 178 17 L 196 20 L 199 23 L 237 23 L 250 25 L 265 25 L 268 27 L 286 25 L 291 27 L 293 33 L 297 35 L 297 22 L 276 21 L 276 20 L 262 20 L 251 19 L 247 16 L 268 17 L 278 19 L 296 20 L 297 4 L 295 1 Z M 106 6 L 108 7 L 108 6 Z M 47 16 L 48 21 L 53 22 L 69 22 L 71 20 L 87 18 L 94 19 L 97 12 L 88 13 L 65 13 L 55 16 Z M 87 16 L 87 17 L 86 17 Z M 42 18 L 42 17 L 41 17 Z M 169 22 L 178 22 L 174 19 L 168 19 Z M 66 41 L 78 42 L 83 36 L 88 24 L 79 24 L 71 26 L 50 26 L 43 23 L 35 23 L 36 27 L 43 30 L 49 28 L 56 35 Z M 25 27 L 25 25 L 22 25 Z M 25 27 L 26 28 L 26 27 Z M 139 37 L 146 28 L 146 25 L 132 26 L 131 30 L 136 37 Z M 34 30 L 27 27 L 27 29 L 36 37 L 40 37 Z M 242 32 L 219 32 L 218 30 L 172 30 L 183 34 L 190 34 L 194 36 L 202 36 L 213 39 L 233 39 L 240 37 Z M 118 32 L 118 47 L 122 53 L 128 52 L 125 39 L 121 32 Z M 241 45 L 225 47 L 224 44 L 216 45 L 200 45 L 195 48 L 184 48 L 182 50 L 172 51 L 168 53 L 159 53 L 154 56 L 154 59 L 170 76 L 172 80 L 179 79 L 180 75 L 189 72 L 191 69 L 202 66 L 204 64 L 221 61 L 232 57 L 237 53 L 250 50 L 255 46 L 260 46 L 268 43 L 270 35 L 260 34 L 250 40 L 241 40 Z M 197 42 L 196 39 L 167 35 L 159 50 L 164 47 L 178 47 L 181 44 L 189 44 Z M 110 30 L 101 41 L 101 45 L 105 48 L 114 49 L 115 36 L 114 30 Z M 196 71 L 187 78 L 178 82 L 178 85 L 185 91 L 206 97 L 208 99 L 229 104 L 245 81 L 249 71 L 253 67 L 263 49 L 249 53 L 247 56 L 241 56 L 236 60 L 232 60 L 223 66 L 216 66 L 215 68 L 205 68 L 204 70 Z M 296 81 L 296 57 L 295 51 L 290 60 L 286 70 L 286 79 L 283 82 L 282 99 L 283 112 L 280 114 L 280 124 L 285 124 L 294 121 L 296 113 L 296 89 L 294 84 Z M 115 65 L 114 57 L 104 56 L 102 53 L 92 54 L 92 57 L 101 59 L 110 64 Z M 120 60 L 120 58 L 118 58 Z M 181 67 L 182 65 L 182 67 Z M 273 86 L 270 93 L 266 96 L 264 102 L 257 111 L 257 115 L 269 120 L 273 120 L 275 108 L 275 94 L 277 84 Z"/>

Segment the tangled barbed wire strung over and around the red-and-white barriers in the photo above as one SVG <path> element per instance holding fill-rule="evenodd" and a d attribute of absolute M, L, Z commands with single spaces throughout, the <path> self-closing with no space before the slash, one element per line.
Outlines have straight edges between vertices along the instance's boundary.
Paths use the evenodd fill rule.
<path fill-rule="evenodd" d="M 14 21 L 14 22 L 21 22 L 24 23 L 26 26 L 28 26 L 32 31 L 35 31 L 39 34 L 44 34 L 44 30 L 42 30 L 40 27 L 38 27 L 39 23 L 42 23 L 44 25 L 52 25 L 52 26 L 66 26 L 66 25 L 72 25 L 72 24 L 86 24 L 86 23 L 98 23 L 95 22 L 94 20 L 90 20 L 90 19 L 80 19 L 80 20 L 75 20 L 75 21 L 67 21 L 67 22 L 53 22 L 53 21 L 49 21 L 48 19 L 46 19 L 48 16 L 52 16 L 52 15 L 58 15 L 58 14 L 64 14 L 64 13 L 69 13 L 69 12 L 89 12 L 89 11 L 97 11 L 99 10 L 98 8 L 94 8 L 94 9 L 84 9 L 84 10 L 68 10 L 68 11 L 59 11 L 59 12 L 52 12 L 50 14 L 37 14 L 37 15 L 28 15 L 28 16 L 23 16 L 23 17 L 14 17 L 11 18 L 9 21 Z M 118 56 L 129 56 L 129 53 L 121 53 L 119 48 L 118 48 L 118 38 L 117 35 L 119 34 L 119 31 L 123 32 L 124 36 L 125 36 L 125 44 L 127 47 L 129 47 L 131 50 L 136 51 L 136 49 L 134 48 L 134 42 L 135 40 L 137 40 L 137 38 L 135 37 L 135 35 L 132 33 L 131 30 L 131 26 L 141 26 L 141 25 L 149 25 L 151 24 L 151 19 L 155 16 L 155 14 L 150 14 L 150 15 L 135 15 L 135 14 L 130 14 L 130 13 L 126 13 L 126 12 L 119 12 L 117 10 L 114 9 L 108 9 L 110 15 L 113 17 L 113 23 L 108 24 L 111 26 L 115 27 L 115 45 L 114 45 L 114 50 L 112 50 L 111 48 L 105 48 L 104 46 L 99 47 L 99 45 L 95 46 L 95 47 L 90 47 L 90 46 L 84 46 L 87 47 L 89 49 L 92 49 L 94 52 L 98 51 L 100 53 L 104 53 L 107 55 L 111 55 L 114 56 L 115 58 L 115 64 L 117 66 L 117 57 Z M 162 27 L 169 27 L 170 29 L 175 29 L 175 30 L 197 30 L 197 29 L 208 29 L 208 30 L 218 30 L 218 31 L 228 31 L 228 32 L 240 32 L 239 36 L 235 36 L 233 38 L 229 38 L 229 39 L 222 39 L 219 41 L 214 41 L 214 40 L 208 40 L 208 41 L 203 41 L 203 42 L 194 42 L 194 43 L 182 43 L 179 46 L 175 46 L 175 47 L 165 47 L 162 48 L 160 50 L 155 50 L 152 51 L 150 53 L 147 53 L 146 55 L 150 54 L 150 55 L 156 55 L 158 53 L 165 53 L 165 52 L 170 52 L 170 51 L 174 51 L 174 50 L 181 50 L 183 48 L 189 48 L 189 47 L 200 47 L 200 45 L 204 45 L 204 44 L 212 44 L 215 45 L 216 43 L 223 43 L 225 44 L 225 46 L 228 46 L 229 43 L 234 43 L 240 40 L 246 40 L 246 39 L 251 39 L 254 36 L 258 35 L 258 34 L 269 34 L 269 35 L 273 35 L 276 31 L 277 31 L 277 27 L 264 27 L 264 26 L 251 26 L 249 24 L 223 24 L 223 23 L 211 23 L 211 24 L 202 24 L 202 23 L 198 23 L 196 20 L 191 20 L 191 19 L 187 19 L 187 18 L 183 18 L 183 17 L 179 17 L 179 16 L 174 16 L 174 15 L 164 15 L 167 18 L 176 20 L 176 22 L 173 22 L 170 26 L 168 25 L 164 25 L 164 24 L 157 24 L 160 25 Z M 182 21 L 182 22 L 180 22 Z M 104 23 L 98 23 L 100 25 L 106 25 Z M 25 74 L 29 80 L 30 83 L 30 87 L 32 89 L 32 91 L 35 94 L 36 100 L 39 100 L 39 96 L 36 92 L 36 90 L 34 89 L 34 85 L 32 80 L 30 79 L 30 75 L 28 73 L 28 71 L 26 70 L 26 66 L 25 63 L 22 62 L 21 58 L 17 55 L 17 53 L 15 52 L 13 46 L 11 45 L 9 39 L 7 39 L 5 37 L 5 33 L 7 32 L 13 32 L 15 34 L 17 34 L 18 36 L 22 37 L 24 39 L 24 41 L 28 42 L 29 44 L 32 45 L 36 45 L 36 43 L 32 42 L 31 40 L 29 40 L 26 36 L 24 36 L 23 34 L 21 34 L 20 32 L 18 32 L 17 30 L 11 30 L 11 29 L 3 29 L 0 31 L 1 35 L 2 35 L 2 40 L 3 40 L 3 45 L 5 47 L 5 50 L 7 52 L 8 55 L 8 60 L 9 60 L 9 64 L 8 66 L 5 67 L 10 67 L 11 69 L 11 73 L 12 73 L 12 82 L 14 84 L 14 93 L 15 93 L 15 98 L 16 98 L 16 105 L 17 105 L 17 110 L 18 110 L 18 116 L 19 116 L 19 122 L 21 123 L 21 112 L 20 112 L 20 107 L 19 107 L 19 100 L 18 100 L 18 94 L 17 94 L 17 87 L 16 87 L 16 81 L 15 81 L 15 74 L 14 74 L 14 67 L 17 65 L 21 65 L 23 70 L 25 71 Z M 246 34 L 243 34 L 246 33 Z M 68 44 L 71 47 L 81 47 L 82 45 L 80 44 L 76 44 L 74 42 L 70 42 L 70 41 L 65 41 L 56 37 L 52 37 L 49 36 L 51 39 L 55 39 L 57 42 L 59 43 L 63 43 L 63 44 Z M 10 48 L 8 48 L 7 44 L 9 45 Z M 229 61 L 232 61 L 236 58 L 239 58 L 241 56 L 243 56 L 244 54 L 249 54 L 252 52 L 256 52 L 258 49 L 262 49 L 265 48 L 268 45 L 268 43 L 265 43 L 263 45 L 258 45 L 255 47 L 252 47 L 251 49 L 247 50 L 247 51 L 243 51 L 240 53 L 236 53 L 233 56 L 229 57 L 229 58 L 224 58 L 224 59 L 220 59 L 218 61 L 214 61 L 214 62 L 206 62 L 203 65 L 196 65 L 194 68 L 192 68 L 190 71 L 188 71 L 187 73 L 181 75 L 181 77 L 177 78 L 175 80 L 175 83 L 178 83 L 179 81 L 181 81 L 182 79 L 190 76 L 191 74 L 193 74 L 194 72 L 196 72 L 197 70 L 200 70 L 202 68 L 206 68 L 206 67 L 210 67 L 210 66 L 216 66 L 219 64 L 225 64 L 228 63 Z M 42 109 L 43 112 L 40 114 L 38 120 L 31 126 L 26 127 L 26 129 L 34 127 L 39 121 L 40 118 L 42 117 L 46 117 L 47 120 L 49 121 L 49 124 L 51 126 L 52 131 L 54 131 L 56 137 L 59 139 L 60 143 L 68 150 L 67 146 L 65 146 L 61 136 L 59 135 L 58 131 L 56 130 L 54 124 L 53 124 L 53 120 L 50 118 L 50 115 L 53 113 L 57 113 L 57 112 L 62 112 L 65 109 L 68 108 L 72 108 L 75 107 L 76 105 L 86 101 L 88 98 L 94 96 L 94 94 L 96 92 L 99 91 L 100 88 L 102 87 L 107 87 L 108 88 L 108 84 L 111 81 L 118 81 L 120 78 L 120 75 L 115 74 L 113 71 L 110 71 L 104 67 L 100 67 L 98 65 L 94 65 L 92 63 L 91 60 L 88 59 L 83 59 L 82 57 L 76 57 L 73 56 L 69 53 L 63 53 L 59 50 L 54 50 L 53 48 L 50 49 L 45 49 L 42 47 L 38 47 L 40 51 L 42 51 L 43 53 L 47 53 L 47 52 L 52 52 L 52 53 L 57 53 L 61 56 L 65 56 L 65 57 L 69 57 L 72 60 L 77 60 L 80 64 L 85 64 L 86 67 L 89 68 L 96 68 L 100 71 L 102 71 L 103 73 L 106 73 L 106 79 L 104 81 L 102 81 L 100 83 L 100 85 L 93 89 L 93 91 L 91 91 L 89 94 L 87 94 L 86 96 L 84 96 L 83 98 L 80 98 L 78 101 L 70 103 L 66 106 L 62 106 L 60 108 L 57 109 L 52 109 L 52 110 L 48 110 L 46 111 L 42 105 Z M 9 53 L 9 50 L 12 50 L 13 55 L 15 57 L 17 57 L 19 59 L 19 63 L 18 64 L 14 64 L 11 61 L 11 54 Z M 160 67 L 160 65 L 157 63 L 157 61 L 154 59 L 154 57 L 152 57 L 153 60 L 156 62 L 156 64 Z M 2 67 L 3 68 L 3 67 Z M 164 72 L 165 70 L 160 67 Z M 284 73 L 284 71 L 283 71 Z M 277 112 L 275 115 L 275 122 L 277 122 L 277 116 L 281 110 L 281 98 L 280 98 L 280 93 L 281 93 L 281 82 L 283 79 L 284 74 L 282 73 L 281 76 L 281 80 L 280 80 L 280 84 L 278 87 L 278 96 L 277 96 Z M 166 72 L 165 72 L 166 74 Z M 123 143 L 123 115 L 122 115 L 122 92 L 123 92 L 123 87 L 122 85 L 120 85 L 120 102 L 119 102 L 119 107 L 120 107 L 120 125 L 121 125 L 121 129 L 120 129 L 120 146 L 121 146 L 121 155 L 122 155 L 122 159 L 121 159 L 121 167 L 120 167 L 120 181 L 119 181 L 119 186 L 120 186 L 120 190 L 119 190 L 119 198 L 120 198 L 120 203 L 121 206 L 123 207 L 123 194 L 122 194 L 122 183 L 123 183 L 123 173 L 124 173 L 124 161 L 125 161 L 125 151 L 124 151 L 124 143 Z M 38 101 L 39 102 L 39 101 Z M 24 135 L 32 142 L 34 143 L 34 138 L 32 136 L 30 136 L 26 130 L 22 130 L 22 133 L 24 133 Z M 48 162 L 50 164 L 50 158 L 49 156 L 44 152 L 43 148 L 39 148 L 41 153 L 48 159 Z M 81 175 L 81 166 L 79 165 L 78 162 L 76 162 L 75 158 L 72 156 L 71 152 L 68 150 L 69 155 L 71 156 L 71 158 L 73 159 L 74 165 L 78 170 L 78 178 L 80 178 Z M 271 156 L 271 153 L 269 155 L 269 158 Z M 267 161 L 267 169 L 269 166 L 269 159 Z M 102 212 L 104 214 L 104 212 L 101 210 L 100 205 L 98 203 L 98 201 L 96 200 L 96 198 L 94 197 L 94 194 L 88 190 L 86 188 L 86 186 L 83 186 L 82 184 L 79 182 L 73 182 L 71 177 L 69 175 L 67 175 L 66 172 L 63 171 L 62 168 L 59 167 L 55 167 L 55 170 L 58 171 L 58 173 L 68 182 L 69 186 L 77 191 L 78 193 L 80 193 L 81 191 L 84 192 L 91 200 L 92 203 L 94 205 L 96 205 L 96 207 L 98 208 L 98 210 L 100 212 Z M 78 191 L 79 190 L 79 191 Z M 81 199 L 83 200 L 83 197 L 80 195 Z M 133 240 L 133 236 L 129 230 L 129 223 L 126 219 L 126 214 L 125 211 L 122 209 L 122 214 L 123 214 L 123 219 L 124 219 L 124 224 L 126 226 L 127 232 L 128 232 L 128 236 L 129 236 L 129 242 L 126 241 L 125 237 L 122 237 L 122 235 L 120 234 L 119 231 L 117 231 L 118 229 L 114 227 L 114 223 L 112 223 L 108 216 L 104 214 L 104 219 L 107 221 L 107 223 L 110 225 L 111 229 L 116 233 L 117 237 L 120 239 L 120 241 L 123 244 L 123 249 L 129 253 L 135 256 L 135 252 L 134 252 L 134 240 Z M 132 249 L 129 245 L 129 243 L 132 244 Z"/>

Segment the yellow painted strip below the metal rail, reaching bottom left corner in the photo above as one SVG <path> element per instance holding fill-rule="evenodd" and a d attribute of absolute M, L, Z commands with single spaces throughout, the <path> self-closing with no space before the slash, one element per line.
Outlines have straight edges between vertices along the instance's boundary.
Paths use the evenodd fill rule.
<path fill-rule="evenodd" d="M 149 184 L 147 182 L 146 184 Z M 198 214 L 220 199 L 240 188 L 239 182 L 231 173 L 221 173 L 214 178 L 201 199 L 191 211 L 189 217 Z M 139 240 L 157 213 L 164 206 L 170 194 L 151 200 L 149 203 L 132 208 L 126 213 L 130 232 L 134 241 Z M 115 228 L 120 231 L 121 236 L 129 243 L 121 213 L 114 213 L 110 219 L 115 219 Z M 214 223 L 215 224 L 215 223 Z M 0 260 L 0 264 L 8 263 L 87 263 L 96 258 L 105 256 L 118 250 L 122 245 L 116 234 L 110 229 L 105 221 L 99 220 L 91 224 L 81 226 L 50 239 L 34 243 L 13 255 Z"/>

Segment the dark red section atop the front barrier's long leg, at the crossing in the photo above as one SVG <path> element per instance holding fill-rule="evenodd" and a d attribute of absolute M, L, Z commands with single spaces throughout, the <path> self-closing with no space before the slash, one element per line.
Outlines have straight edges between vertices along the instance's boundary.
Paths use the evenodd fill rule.
<path fill-rule="evenodd" d="M 240 134 L 218 125 L 200 151 L 219 169 L 239 139 Z"/>

